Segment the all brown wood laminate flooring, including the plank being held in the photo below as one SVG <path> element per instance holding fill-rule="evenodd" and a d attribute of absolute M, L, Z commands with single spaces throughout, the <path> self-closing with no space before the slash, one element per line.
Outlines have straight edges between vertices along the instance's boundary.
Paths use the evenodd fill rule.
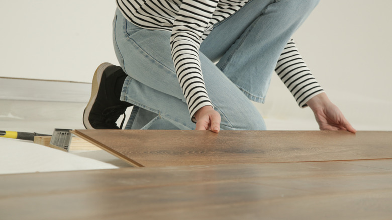
<path fill-rule="evenodd" d="M 391 132 L 75 133 L 146 167 L 2 175 L 0 219 L 392 216 Z"/>

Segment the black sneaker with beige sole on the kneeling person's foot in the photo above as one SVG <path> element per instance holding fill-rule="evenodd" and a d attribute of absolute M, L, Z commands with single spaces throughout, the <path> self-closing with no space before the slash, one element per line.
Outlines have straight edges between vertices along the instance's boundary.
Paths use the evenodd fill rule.
<path fill-rule="evenodd" d="M 116 84 L 124 82 L 127 74 L 120 66 L 103 63 L 96 68 L 91 84 L 91 97 L 83 112 L 83 125 L 86 129 L 122 129 L 116 122 L 132 104 L 121 101 L 121 90 Z M 122 82 L 118 82 L 122 80 Z"/>

